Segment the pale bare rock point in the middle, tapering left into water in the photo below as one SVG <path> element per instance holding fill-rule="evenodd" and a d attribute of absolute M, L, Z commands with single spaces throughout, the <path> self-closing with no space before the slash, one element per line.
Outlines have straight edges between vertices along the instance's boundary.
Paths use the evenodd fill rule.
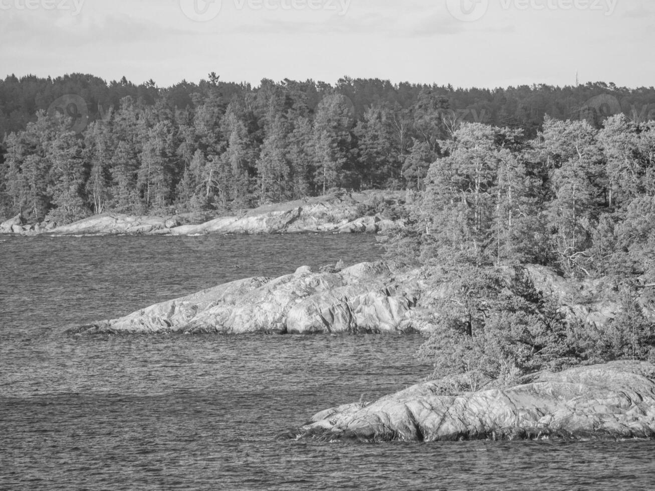
<path fill-rule="evenodd" d="M 276 279 L 249 278 L 132 314 L 69 330 L 69 333 L 343 333 L 412 329 L 415 303 L 384 263 L 363 263 L 340 272 L 305 266 Z"/>

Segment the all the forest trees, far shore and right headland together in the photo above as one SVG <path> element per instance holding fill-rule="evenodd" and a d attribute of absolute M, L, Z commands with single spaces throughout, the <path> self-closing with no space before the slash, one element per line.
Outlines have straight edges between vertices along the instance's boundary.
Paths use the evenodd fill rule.
<path fill-rule="evenodd" d="M 444 291 L 414 319 L 445 391 L 537 369 L 655 361 L 655 88 L 461 89 L 341 79 L 158 88 L 0 82 L 0 215 L 227 213 L 334 189 L 407 190 L 386 257 Z M 400 223 L 400 222 L 399 222 Z M 521 273 L 546 266 L 602 323 Z M 593 290 L 593 289 L 592 289 Z M 572 300 L 571 300 L 572 301 Z M 449 378 L 450 377 L 450 378 Z M 463 377 L 463 378 L 462 378 Z"/>

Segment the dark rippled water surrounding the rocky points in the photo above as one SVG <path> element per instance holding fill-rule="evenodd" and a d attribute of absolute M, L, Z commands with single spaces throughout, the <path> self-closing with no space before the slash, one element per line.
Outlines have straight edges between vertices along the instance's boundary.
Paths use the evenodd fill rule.
<path fill-rule="evenodd" d="M 370 236 L 0 236 L 2 490 L 650 490 L 654 442 L 278 437 L 429 369 L 420 336 L 65 336 L 246 276 L 377 259 Z"/>

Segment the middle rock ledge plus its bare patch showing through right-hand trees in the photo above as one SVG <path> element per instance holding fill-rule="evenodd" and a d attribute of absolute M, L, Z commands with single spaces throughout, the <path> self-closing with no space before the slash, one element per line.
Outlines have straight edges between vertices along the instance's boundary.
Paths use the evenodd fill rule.
<path fill-rule="evenodd" d="M 506 268 L 508 279 L 517 271 Z M 309 266 L 280 278 L 247 278 L 155 304 L 118 319 L 73 327 L 72 334 L 399 333 L 430 329 L 416 321 L 449 295 L 434 273 L 393 270 L 383 262 L 341 271 Z M 603 325 L 620 312 L 604 280 L 576 282 L 544 266 L 525 264 L 522 276 L 557 300 L 568 318 Z"/>

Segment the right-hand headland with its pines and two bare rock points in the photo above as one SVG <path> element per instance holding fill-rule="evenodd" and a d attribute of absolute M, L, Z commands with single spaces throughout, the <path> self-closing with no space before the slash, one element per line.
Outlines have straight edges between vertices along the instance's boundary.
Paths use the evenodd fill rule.
<path fill-rule="evenodd" d="M 223 285 L 71 333 L 425 336 L 429 382 L 293 438 L 653 437 L 655 124 L 549 119 L 529 143 L 463 124 L 441 145 L 403 227 L 380 235 L 386 263 Z"/>

